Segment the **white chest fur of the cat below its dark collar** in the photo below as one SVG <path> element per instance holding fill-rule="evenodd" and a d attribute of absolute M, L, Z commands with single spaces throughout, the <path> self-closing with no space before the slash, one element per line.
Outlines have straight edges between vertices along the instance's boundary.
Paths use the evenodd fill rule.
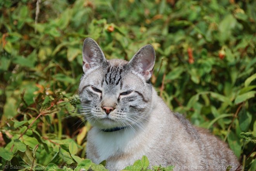
<path fill-rule="evenodd" d="M 121 161 L 122 156 L 130 156 L 131 161 L 135 161 L 144 154 L 145 147 L 139 140 L 140 135 L 143 134 L 141 130 L 136 133 L 131 129 L 103 132 L 97 128 L 92 128 L 88 135 L 88 143 L 93 144 L 93 147 L 87 146 L 87 155 L 95 163 L 100 163 L 106 159 L 119 158 L 120 160 L 116 162 L 121 162 L 120 164 L 126 164 L 127 166 L 129 161 L 127 161 L 127 158 Z M 97 155 L 92 157 L 92 153 Z"/>

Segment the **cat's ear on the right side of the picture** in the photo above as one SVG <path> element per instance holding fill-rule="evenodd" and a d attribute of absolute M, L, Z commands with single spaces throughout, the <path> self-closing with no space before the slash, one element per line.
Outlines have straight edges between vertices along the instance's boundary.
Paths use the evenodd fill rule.
<path fill-rule="evenodd" d="M 129 64 L 148 81 L 153 73 L 156 54 L 152 45 L 145 45 L 132 57 Z"/>

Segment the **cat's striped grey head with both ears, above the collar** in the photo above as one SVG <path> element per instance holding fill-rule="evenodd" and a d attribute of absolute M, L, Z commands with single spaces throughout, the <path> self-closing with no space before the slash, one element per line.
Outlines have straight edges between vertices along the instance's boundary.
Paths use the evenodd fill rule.
<path fill-rule="evenodd" d="M 83 76 L 79 95 L 88 121 L 100 129 L 141 127 L 149 118 L 155 51 L 140 48 L 128 62 L 106 60 L 92 38 L 83 43 Z"/>

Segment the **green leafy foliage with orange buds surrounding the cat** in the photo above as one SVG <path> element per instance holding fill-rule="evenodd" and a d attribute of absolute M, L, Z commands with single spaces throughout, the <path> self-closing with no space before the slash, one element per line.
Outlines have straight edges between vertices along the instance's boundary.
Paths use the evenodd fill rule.
<path fill-rule="evenodd" d="M 152 44 L 159 95 L 255 171 L 255 7 L 254 0 L 0 0 L 0 169 L 94 166 L 83 160 L 90 125 L 76 100 L 83 40 L 92 37 L 107 59 L 129 60 Z"/>

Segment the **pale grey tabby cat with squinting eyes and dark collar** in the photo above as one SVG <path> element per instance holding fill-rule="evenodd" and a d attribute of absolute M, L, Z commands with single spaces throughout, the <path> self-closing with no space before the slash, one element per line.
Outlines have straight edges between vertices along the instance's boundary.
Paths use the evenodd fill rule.
<path fill-rule="evenodd" d="M 79 95 L 86 119 L 86 157 L 119 171 L 143 155 L 150 166 L 174 171 L 225 171 L 239 167 L 224 142 L 182 115 L 170 111 L 150 84 L 155 63 L 152 45 L 140 48 L 128 62 L 106 60 L 92 38 L 83 43 L 83 76 Z"/>

